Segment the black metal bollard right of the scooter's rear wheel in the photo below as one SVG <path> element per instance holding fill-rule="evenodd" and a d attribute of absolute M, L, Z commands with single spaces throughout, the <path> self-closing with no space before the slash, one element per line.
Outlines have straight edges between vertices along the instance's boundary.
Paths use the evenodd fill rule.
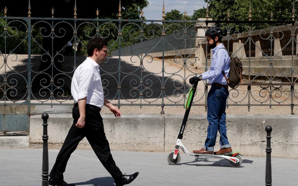
<path fill-rule="evenodd" d="M 270 186 L 272 185 L 272 174 L 271 174 L 271 131 L 272 131 L 272 127 L 271 126 L 266 126 L 265 128 L 266 132 L 267 132 L 267 147 L 266 147 L 266 174 L 265 174 L 265 185 Z"/>

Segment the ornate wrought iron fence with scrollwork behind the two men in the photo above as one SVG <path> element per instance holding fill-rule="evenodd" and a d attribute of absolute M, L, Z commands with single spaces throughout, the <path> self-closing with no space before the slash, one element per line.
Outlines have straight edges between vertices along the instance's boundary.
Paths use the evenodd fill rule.
<path fill-rule="evenodd" d="M 161 113 L 165 106 L 182 106 L 190 88 L 189 78 L 201 73 L 200 61 L 204 61 L 203 71 L 209 66 L 210 50 L 204 39 L 196 41 L 197 30 L 214 24 L 225 30 L 223 42 L 232 55 L 241 50 L 248 52 L 242 56 L 245 83 L 230 89 L 229 106 L 248 109 L 289 106 L 292 114 L 297 106 L 295 21 L 0 19 L 0 104 L 27 105 L 28 113 L 30 105 L 73 104 L 69 91 L 71 77 L 76 66 L 86 58 L 86 42 L 92 37 L 109 40 L 108 48 L 114 50 L 100 66 L 105 96 L 114 104 L 161 106 Z M 268 24 L 268 29 L 261 28 L 260 23 Z M 279 29 L 276 24 L 286 25 L 285 30 L 275 31 Z M 239 26 L 247 31 L 246 37 L 237 30 Z M 171 39 L 166 37 L 168 34 Z M 154 42 L 150 43 L 151 40 Z M 66 49 L 68 41 L 73 44 L 71 50 Z M 276 41 L 285 41 L 278 52 Z M 133 48 L 134 43 L 139 47 Z M 188 43 L 196 45 L 189 48 Z M 235 51 L 234 43 L 240 44 Z M 27 48 L 20 48 L 24 46 Z M 159 51 L 155 50 L 157 46 Z M 172 54 L 165 51 L 165 46 Z M 283 55 L 289 48 L 290 55 L 289 52 Z M 124 50 L 131 53 L 130 57 L 122 55 Z M 201 56 L 197 55 L 199 51 L 203 51 Z M 260 58 L 252 51 L 261 54 Z M 159 59 L 153 55 L 157 52 Z M 193 106 L 207 108 L 208 85 L 200 82 Z"/>

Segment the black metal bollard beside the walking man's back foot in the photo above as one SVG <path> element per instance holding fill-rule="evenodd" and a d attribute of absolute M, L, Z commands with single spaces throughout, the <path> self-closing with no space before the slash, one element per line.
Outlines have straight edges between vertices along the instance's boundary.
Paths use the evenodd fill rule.
<path fill-rule="evenodd" d="M 49 114 L 43 113 L 41 115 L 43 119 L 43 151 L 42 151 L 42 186 L 49 186 L 49 154 L 48 154 L 48 145 L 47 140 L 49 139 L 47 135 L 47 119 L 49 118 Z"/>

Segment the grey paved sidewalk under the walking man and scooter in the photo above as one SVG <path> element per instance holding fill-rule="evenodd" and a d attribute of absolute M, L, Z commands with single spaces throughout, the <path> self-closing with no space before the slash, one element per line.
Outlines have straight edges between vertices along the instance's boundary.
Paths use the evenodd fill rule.
<path fill-rule="evenodd" d="M 51 170 L 58 149 L 49 149 Z M 265 152 L 264 152 L 265 153 Z M 261 186 L 265 185 L 265 157 L 243 157 L 240 167 L 224 159 L 195 161 L 181 154 L 178 165 L 169 165 L 168 153 L 112 151 L 123 173 L 140 172 L 130 186 Z M 297 186 L 298 160 L 272 158 L 272 185 Z M 42 149 L 0 149 L 0 186 L 38 186 L 42 181 Z M 50 171 L 49 170 L 49 171 Z M 114 186 L 92 150 L 75 150 L 64 180 L 80 186 Z"/>

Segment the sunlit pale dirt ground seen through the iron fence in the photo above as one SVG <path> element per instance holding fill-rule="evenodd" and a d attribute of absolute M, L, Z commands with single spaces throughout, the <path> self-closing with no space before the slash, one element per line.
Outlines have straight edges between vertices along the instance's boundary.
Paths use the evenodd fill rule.
<path fill-rule="evenodd" d="M 71 56 L 70 56 L 71 57 Z M 13 56 L 13 57 L 8 57 L 8 61 L 7 61 L 7 66 L 6 66 L 6 72 L 7 69 L 11 69 L 11 70 L 16 70 L 18 72 L 23 71 L 24 69 L 26 69 L 26 64 L 27 64 L 27 58 L 28 56 L 26 55 L 17 55 L 17 56 Z M 79 56 L 77 59 L 77 64 L 80 64 L 82 61 L 84 61 L 86 57 L 84 56 Z M 70 60 L 73 60 L 73 57 L 70 58 Z M 117 63 L 118 63 L 118 57 L 110 57 L 109 61 L 107 63 L 103 63 L 101 64 L 102 67 L 106 67 L 106 69 L 111 70 L 111 71 L 115 71 L 114 69 L 117 69 Z M 143 59 L 143 61 L 140 60 L 139 57 L 131 57 L 131 56 L 122 56 L 121 57 L 121 65 L 123 67 L 121 67 L 121 70 L 124 71 L 125 73 L 128 74 L 135 74 L 137 76 L 140 77 L 140 74 L 136 74 L 136 72 L 133 72 L 135 69 L 138 69 L 140 64 L 142 63 L 143 65 L 143 72 L 146 72 L 143 74 L 143 76 L 145 75 L 152 75 L 154 74 L 155 77 L 161 77 L 162 73 L 161 73 L 161 69 L 162 69 L 162 61 L 157 59 L 157 58 L 150 58 L 150 57 L 146 57 Z M 37 61 L 37 63 L 35 63 L 34 61 L 32 61 L 34 67 L 36 69 L 38 69 L 38 64 L 40 63 L 39 61 Z M 71 65 L 73 63 L 70 63 Z M 188 63 L 191 64 L 191 63 Z M 8 68 L 9 67 L 9 68 Z M 65 67 L 65 66 L 64 66 Z M 73 66 L 70 66 L 71 68 L 73 68 Z M 188 65 L 188 69 L 186 69 L 184 71 L 183 67 L 183 61 L 179 61 L 176 60 L 176 62 L 174 61 L 170 61 L 170 60 L 165 60 L 164 63 L 164 77 L 165 78 L 171 78 L 172 81 L 174 82 L 175 79 L 179 79 L 179 81 L 183 82 L 183 80 L 181 80 L 182 77 L 192 77 L 195 73 L 196 74 L 200 74 L 202 73 L 200 70 L 195 69 L 193 65 Z M 66 68 L 68 68 L 68 66 L 66 66 Z M 3 74 L 4 72 L 4 64 L 3 64 L 3 58 L 0 59 L 0 73 Z M 20 70 L 22 69 L 22 70 Z M 133 69 L 133 70 L 132 70 Z M 104 72 L 101 72 L 102 74 Z M 173 75 L 175 74 L 175 75 Z M 187 79 L 189 79 L 189 77 Z M 173 80 L 174 79 L 174 80 Z M 1 79 L 0 79 L 1 80 Z M 69 79 L 70 80 L 70 79 Z M 68 80 L 68 81 L 69 81 Z M 111 82 L 113 83 L 113 82 Z M 154 82 L 153 82 L 154 83 Z M 188 83 L 188 82 L 187 82 Z M 198 89 L 197 89 L 197 98 L 199 99 L 199 96 L 202 96 L 204 94 L 204 84 L 202 82 L 200 82 L 201 84 L 198 85 Z M 154 85 L 152 86 L 152 90 L 153 92 L 160 92 L 160 86 L 158 85 L 156 89 L 154 89 Z M 200 88 L 199 88 L 200 87 Z M 130 90 L 130 88 L 128 88 L 128 90 Z M 240 86 L 238 88 L 239 90 L 239 95 L 238 97 L 245 97 L 246 93 L 247 93 L 247 87 L 246 86 Z M 124 91 L 124 88 L 121 90 L 123 92 L 129 92 L 129 91 Z M 21 93 L 22 90 L 19 91 L 19 93 Z M 232 96 L 232 94 L 235 92 L 231 92 L 230 96 Z M 260 97 L 260 90 L 259 89 L 255 89 L 252 90 L 252 93 L 254 93 L 256 95 L 256 99 L 251 98 L 251 104 L 259 104 L 259 101 L 262 101 L 262 97 Z M 127 93 L 128 94 L 128 93 Z M 262 94 L 262 92 L 261 92 Z M 267 94 L 268 95 L 268 94 Z M 1 94 L 0 94 L 1 96 Z M 257 96 L 259 96 L 260 98 L 258 98 Z M 273 95 L 274 96 L 274 95 Z M 284 94 L 283 96 L 281 96 L 279 98 L 279 101 L 283 101 L 283 99 L 285 99 L 287 102 L 287 104 L 290 104 L 290 98 L 288 98 L 289 95 Z M 125 97 L 125 95 L 124 95 Z M 169 99 L 172 99 L 172 97 L 169 97 Z M 173 98 L 174 99 L 174 98 Z M 205 98 L 202 98 L 202 101 L 204 101 Z M 129 100 L 130 101 L 130 100 Z M 126 100 L 121 100 L 121 104 L 130 104 L 129 101 Z M 202 104 L 203 102 L 200 102 L 200 104 Z M 67 100 L 64 101 L 63 103 L 72 103 L 73 100 Z M 112 103 L 117 103 L 118 100 L 113 100 Z M 165 98 L 165 102 L 167 104 L 174 104 L 174 102 L 169 101 L 167 98 Z M 296 104 L 297 100 L 294 100 L 294 103 Z M 137 102 L 139 103 L 139 102 Z M 142 101 L 142 103 L 146 103 L 145 101 Z M 152 102 L 152 104 L 160 104 L 161 101 L 155 101 Z M 183 104 L 181 102 L 178 102 L 179 104 Z M 247 104 L 247 98 L 245 100 L 243 100 L 243 102 L 240 102 L 241 104 Z M 270 108 L 269 106 L 251 106 L 251 108 L 248 110 L 247 106 L 232 106 L 232 103 L 230 103 L 230 106 L 226 109 L 226 113 L 227 114 L 291 114 L 291 107 L 290 106 L 272 106 L 272 108 Z M 266 102 L 266 104 L 268 104 L 268 102 Z M 285 104 L 285 103 L 282 103 Z M 260 104 L 259 104 L 260 105 Z M 161 106 L 121 106 L 120 110 L 122 112 L 122 114 L 160 114 L 160 112 L 162 111 Z M 185 109 L 183 108 L 183 106 L 165 106 L 164 107 L 164 113 L 165 114 L 184 114 L 185 113 Z M 294 107 L 293 110 L 294 113 L 298 113 L 297 111 L 297 107 Z M 102 109 L 102 113 L 110 113 L 110 111 L 107 108 L 103 108 Z M 193 106 L 191 108 L 191 112 L 190 114 L 207 114 L 207 112 L 205 111 L 205 107 L 204 106 Z"/>

